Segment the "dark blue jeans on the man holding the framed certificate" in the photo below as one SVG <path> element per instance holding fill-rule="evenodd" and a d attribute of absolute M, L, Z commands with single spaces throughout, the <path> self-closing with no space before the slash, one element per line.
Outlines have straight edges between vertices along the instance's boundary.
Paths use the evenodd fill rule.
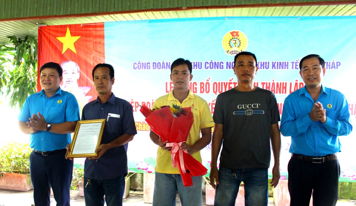
<path fill-rule="evenodd" d="M 120 175 L 111 180 L 94 180 L 84 177 L 85 206 L 103 206 L 104 195 L 107 206 L 122 206 L 125 190 L 125 176 Z"/>

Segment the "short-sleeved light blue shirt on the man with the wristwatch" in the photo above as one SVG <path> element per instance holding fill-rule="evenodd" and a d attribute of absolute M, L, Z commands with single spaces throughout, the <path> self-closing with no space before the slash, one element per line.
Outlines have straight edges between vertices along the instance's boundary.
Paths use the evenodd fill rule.
<path fill-rule="evenodd" d="M 32 118 L 32 114 L 37 115 L 37 112 L 45 117 L 47 123 L 59 124 L 80 120 L 77 99 L 61 88 L 49 98 L 43 89 L 31 94 L 26 98 L 17 119 L 22 122 L 30 121 L 28 118 Z M 30 147 L 38 151 L 53 151 L 66 148 L 71 140 L 70 134 L 38 131 L 30 134 Z"/>

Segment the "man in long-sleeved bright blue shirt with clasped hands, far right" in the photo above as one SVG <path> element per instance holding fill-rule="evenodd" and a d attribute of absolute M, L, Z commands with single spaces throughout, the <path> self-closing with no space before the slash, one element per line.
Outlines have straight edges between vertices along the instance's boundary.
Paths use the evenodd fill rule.
<path fill-rule="evenodd" d="M 305 86 L 284 101 L 281 133 L 291 136 L 288 164 L 290 206 L 336 205 L 341 151 L 338 136 L 352 131 L 349 104 L 344 95 L 321 85 L 325 61 L 308 55 L 299 63 Z"/>

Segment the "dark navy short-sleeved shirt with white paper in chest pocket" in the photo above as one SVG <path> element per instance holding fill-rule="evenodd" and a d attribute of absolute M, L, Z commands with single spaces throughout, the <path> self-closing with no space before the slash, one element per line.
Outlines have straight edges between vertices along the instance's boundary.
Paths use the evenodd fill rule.
<path fill-rule="evenodd" d="M 123 134 L 137 134 L 132 106 L 124 99 L 111 97 L 102 104 L 99 97 L 83 108 L 82 120 L 107 119 L 101 144 L 108 144 Z M 110 180 L 127 173 L 127 144 L 109 149 L 98 160 L 85 159 L 84 177 Z"/>

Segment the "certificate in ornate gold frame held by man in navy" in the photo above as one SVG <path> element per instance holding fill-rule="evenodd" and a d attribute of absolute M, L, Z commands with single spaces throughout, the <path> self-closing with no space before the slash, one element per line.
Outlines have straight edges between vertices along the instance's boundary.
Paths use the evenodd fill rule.
<path fill-rule="evenodd" d="M 95 152 L 101 144 L 105 127 L 105 119 L 78 121 L 75 127 L 72 143 L 70 143 L 69 158 L 97 157 Z"/>

